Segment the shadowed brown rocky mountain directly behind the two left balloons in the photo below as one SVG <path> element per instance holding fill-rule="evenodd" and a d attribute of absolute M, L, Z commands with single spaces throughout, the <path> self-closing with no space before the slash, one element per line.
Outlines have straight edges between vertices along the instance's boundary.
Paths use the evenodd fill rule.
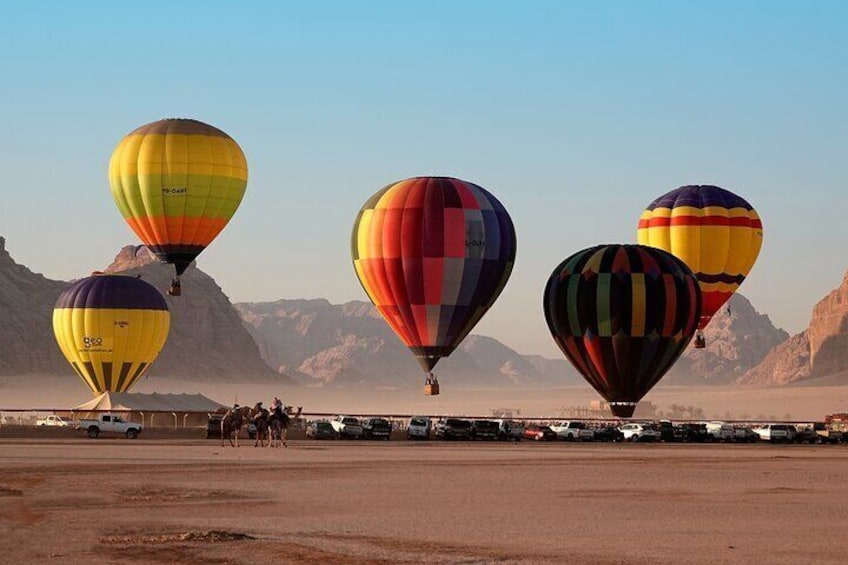
<path fill-rule="evenodd" d="M 106 272 L 141 275 L 164 294 L 174 271 L 146 247 L 129 245 Z M 192 264 L 180 278 L 182 296 L 165 295 L 171 330 L 149 374 L 189 381 L 294 384 L 285 372 L 273 371 L 265 364 L 229 298 L 212 277 Z"/>

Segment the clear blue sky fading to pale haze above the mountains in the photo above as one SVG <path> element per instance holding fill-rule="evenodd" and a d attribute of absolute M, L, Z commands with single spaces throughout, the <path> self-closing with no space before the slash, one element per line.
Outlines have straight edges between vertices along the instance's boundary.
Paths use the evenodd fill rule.
<path fill-rule="evenodd" d="M 512 215 L 515 270 L 475 331 L 522 353 L 559 355 L 553 268 L 635 242 L 683 184 L 762 216 L 742 293 L 776 325 L 803 329 L 848 268 L 848 2 L 20 2 L 0 26 L 0 235 L 50 278 L 138 243 L 107 164 L 165 117 L 247 155 L 245 200 L 198 260 L 234 302 L 367 300 L 356 213 L 427 174 Z"/>

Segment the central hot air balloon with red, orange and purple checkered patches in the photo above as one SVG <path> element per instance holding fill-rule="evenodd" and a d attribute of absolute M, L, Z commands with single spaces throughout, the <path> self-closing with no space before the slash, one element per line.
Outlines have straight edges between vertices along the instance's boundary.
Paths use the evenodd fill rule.
<path fill-rule="evenodd" d="M 351 255 L 359 282 L 426 372 L 468 335 L 506 285 L 515 228 L 484 188 L 417 177 L 377 191 L 356 217 Z"/>

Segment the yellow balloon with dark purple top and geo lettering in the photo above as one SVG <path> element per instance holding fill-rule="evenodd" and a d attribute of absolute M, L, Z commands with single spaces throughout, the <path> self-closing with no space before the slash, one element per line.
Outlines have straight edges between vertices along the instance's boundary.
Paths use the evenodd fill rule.
<path fill-rule="evenodd" d="M 79 280 L 53 309 L 59 348 L 95 394 L 129 390 L 159 355 L 170 323 L 162 294 L 126 275 Z"/>

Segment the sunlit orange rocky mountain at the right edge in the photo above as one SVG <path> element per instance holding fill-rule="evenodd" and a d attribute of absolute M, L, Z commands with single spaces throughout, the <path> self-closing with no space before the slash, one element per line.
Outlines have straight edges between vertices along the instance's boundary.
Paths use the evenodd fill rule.
<path fill-rule="evenodd" d="M 743 384 L 783 385 L 848 371 L 848 273 L 813 307 L 809 327 L 776 347 L 739 378 Z"/>

